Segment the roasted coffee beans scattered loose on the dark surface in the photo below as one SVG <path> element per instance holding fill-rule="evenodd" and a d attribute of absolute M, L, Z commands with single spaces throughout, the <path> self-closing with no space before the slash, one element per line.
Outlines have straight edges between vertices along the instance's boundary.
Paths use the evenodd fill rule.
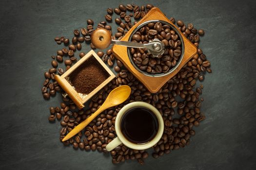
<path fill-rule="evenodd" d="M 137 20 L 144 17 L 152 7 L 153 5 L 150 4 L 141 7 L 134 4 L 120 4 L 118 8 L 108 8 L 107 16 L 105 17 L 107 21 L 110 21 L 110 18 L 112 19 L 114 13 L 119 16 L 115 21 L 120 27 L 118 27 L 118 32 L 115 33 L 113 38 L 119 39 L 123 34 L 126 34 L 127 30 L 133 25 L 131 21 L 133 17 Z M 177 20 L 176 22 L 173 17 L 170 18 L 170 21 L 177 23 L 179 30 L 198 47 L 199 35 L 204 35 L 203 30 L 197 31 L 193 24 L 189 23 L 185 25 L 181 20 Z M 56 91 L 64 92 L 54 80 L 57 70 L 59 75 L 64 73 L 64 69 L 60 68 L 58 63 L 63 62 L 64 57 L 68 57 L 68 59 L 65 59 L 64 64 L 66 67 L 65 70 L 69 69 L 77 61 L 74 51 L 81 50 L 79 44 L 84 41 L 90 44 L 90 36 L 94 31 L 94 22 L 92 19 L 88 19 L 87 24 L 87 29 L 82 28 L 80 31 L 74 31 L 74 37 L 70 45 L 69 40 L 63 36 L 55 38 L 58 44 L 63 42 L 64 46 L 68 46 L 69 50 L 64 47 L 62 50 L 57 51 L 56 56 L 52 56 L 53 68 L 50 68 L 44 74 L 45 81 L 42 87 L 42 94 L 45 99 L 49 99 L 50 96 L 55 95 Z M 98 23 L 97 27 L 105 28 L 112 33 L 111 26 L 107 25 L 106 21 Z M 91 47 L 94 48 L 92 44 Z M 106 53 L 98 51 L 98 56 L 110 67 L 113 66 L 113 63 L 117 63 L 117 66 L 114 68 L 117 72 L 116 79 L 112 80 L 92 97 L 89 102 L 89 108 L 79 109 L 68 97 L 62 97 L 63 102 L 60 103 L 60 106 L 50 107 L 49 121 L 53 122 L 57 119 L 60 122 L 62 128 L 59 139 L 61 141 L 68 132 L 75 128 L 81 121 L 87 119 L 100 107 L 112 89 L 119 85 L 129 85 L 132 92 L 126 102 L 103 111 L 84 130 L 79 132 L 79 134 L 62 143 L 66 146 L 73 145 L 74 149 L 82 151 L 97 150 L 98 152 L 107 153 L 106 145 L 116 137 L 115 119 L 118 111 L 129 102 L 143 101 L 154 105 L 164 120 L 164 133 L 158 143 L 153 147 L 154 152 L 152 156 L 158 158 L 173 150 L 183 148 L 190 144 L 191 136 L 195 135 L 194 128 L 205 119 L 204 114 L 200 111 L 201 103 L 204 100 L 200 96 L 203 85 L 197 85 L 197 80 L 203 81 L 205 73 L 211 73 L 212 70 L 210 68 L 211 63 L 207 60 L 206 55 L 200 48 L 198 48 L 197 54 L 175 77 L 163 85 L 157 93 L 152 94 L 132 73 L 123 67 L 121 61 L 115 60 L 115 55 L 111 49 L 107 50 Z M 85 53 L 80 52 L 78 55 L 79 57 L 83 57 Z M 110 154 L 114 164 L 124 162 L 128 159 L 135 159 L 139 164 L 143 165 L 150 151 L 150 149 L 141 151 L 133 150 L 121 144 L 111 151 Z"/>

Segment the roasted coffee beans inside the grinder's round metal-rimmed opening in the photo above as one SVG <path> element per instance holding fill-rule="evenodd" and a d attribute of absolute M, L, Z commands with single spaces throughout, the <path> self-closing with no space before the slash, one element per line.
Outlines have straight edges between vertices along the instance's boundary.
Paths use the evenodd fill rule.
<path fill-rule="evenodd" d="M 132 41 L 147 44 L 153 39 L 164 44 L 164 53 L 154 57 L 147 49 L 130 48 L 134 63 L 150 74 L 166 73 L 174 68 L 182 55 L 182 42 L 170 24 L 150 22 L 132 35 Z"/>

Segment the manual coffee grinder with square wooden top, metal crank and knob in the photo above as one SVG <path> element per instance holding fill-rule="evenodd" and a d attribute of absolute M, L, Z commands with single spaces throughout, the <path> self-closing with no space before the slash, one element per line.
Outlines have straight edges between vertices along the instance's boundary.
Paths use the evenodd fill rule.
<path fill-rule="evenodd" d="M 133 62 L 130 50 L 128 47 L 133 48 L 146 48 L 148 52 L 157 57 L 163 54 L 164 45 L 158 40 L 154 39 L 148 44 L 141 44 L 132 42 L 132 35 L 135 34 L 141 27 L 150 22 L 161 22 L 169 24 L 172 29 L 178 34 L 182 43 L 182 53 L 177 62 L 177 65 L 166 73 L 161 74 L 148 74 L 141 71 Z M 145 17 L 143 17 L 136 25 L 134 25 L 125 34 L 120 41 L 112 40 L 111 34 L 105 29 L 96 29 L 92 35 L 92 43 L 98 49 L 105 49 L 113 44 L 113 53 L 120 60 L 124 66 L 143 84 L 151 93 L 156 93 L 158 90 L 195 55 L 197 55 L 197 47 L 193 45 L 187 37 L 185 37 L 170 20 L 156 7 L 152 8 Z"/>

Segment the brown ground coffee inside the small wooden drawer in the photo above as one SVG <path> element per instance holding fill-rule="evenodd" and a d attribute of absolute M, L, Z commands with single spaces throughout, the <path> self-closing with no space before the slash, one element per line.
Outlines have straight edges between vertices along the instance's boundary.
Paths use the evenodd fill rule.
<path fill-rule="evenodd" d="M 89 94 L 104 82 L 109 77 L 109 74 L 96 58 L 90 57 L 74 70 L 69 77 L 77 92 Z"/>

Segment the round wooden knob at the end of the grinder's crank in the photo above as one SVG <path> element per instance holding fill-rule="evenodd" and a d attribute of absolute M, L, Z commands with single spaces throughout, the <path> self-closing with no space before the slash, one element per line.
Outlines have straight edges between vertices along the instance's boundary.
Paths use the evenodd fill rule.
<path fill-rule="evenodd" d="M 111 44 L 111 34 L 104 28 L 96 29 L 92 34 L 92 44 L 97 49 L 106 49 Z"/>

